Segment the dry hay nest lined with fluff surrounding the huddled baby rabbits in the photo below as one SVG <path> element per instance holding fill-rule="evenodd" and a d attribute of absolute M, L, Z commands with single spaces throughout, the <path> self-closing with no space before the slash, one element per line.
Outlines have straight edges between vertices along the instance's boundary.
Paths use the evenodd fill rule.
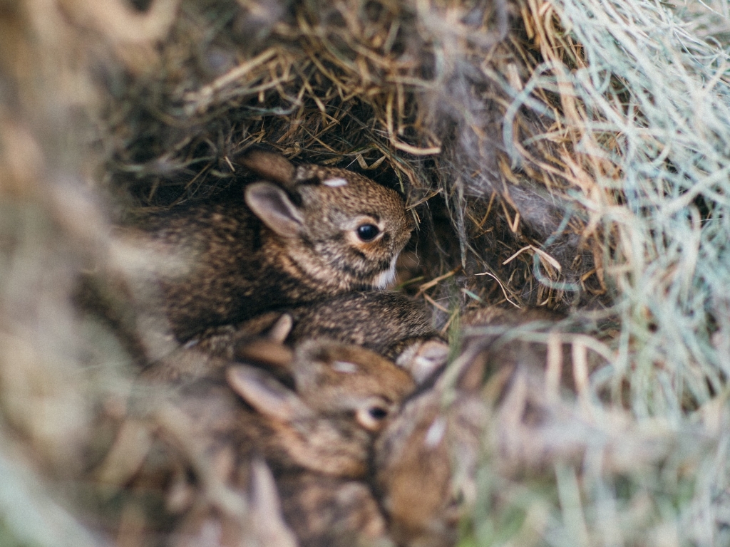
<path fill-rule="evenodd" d="M 730 541 L 724 4 L 91 4 L 0 1 L 0 463 L 21 477 L 0 540 L 48 543 L 7 509 L 32 499 L 95 541 L 78 481 L 131 358 L 71 296 L 109 218 L 223 192 L 263 143 L 406 193 L 404 290 L 445 330 L 483 303 L 546 306 L 610 357 L 517 439 L 550 441 L 547 466 L 504 471 L 496 421 L 464 545 Z"/>

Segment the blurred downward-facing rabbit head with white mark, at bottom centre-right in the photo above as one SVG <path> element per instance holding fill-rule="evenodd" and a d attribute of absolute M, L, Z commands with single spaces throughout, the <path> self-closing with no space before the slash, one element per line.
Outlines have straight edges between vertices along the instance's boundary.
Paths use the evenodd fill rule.
<path fill-rule="evenodd" d="M 374 449 L 374 489 L 400 546 L 453 545 L 472 497 L 484 427 L 483 403 L 458 392 L 445 405 L 442 389 L 404 403 Z"/>

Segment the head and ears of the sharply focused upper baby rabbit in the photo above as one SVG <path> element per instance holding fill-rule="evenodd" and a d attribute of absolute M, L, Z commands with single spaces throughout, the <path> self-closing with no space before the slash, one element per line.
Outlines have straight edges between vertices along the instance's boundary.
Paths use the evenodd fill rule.
<path fill-rule="evenodd" d="M 266 179 L 248 185 L 245 200 L 275 234 L 272 246 L 291 261 L 285 267 L 294 277 L 303 271 L 336 291 L 393 281 L 415 227 L 398 193 L 345 169 L 295 167 L 272 152 L 253 150 L 239 161 Z"/>

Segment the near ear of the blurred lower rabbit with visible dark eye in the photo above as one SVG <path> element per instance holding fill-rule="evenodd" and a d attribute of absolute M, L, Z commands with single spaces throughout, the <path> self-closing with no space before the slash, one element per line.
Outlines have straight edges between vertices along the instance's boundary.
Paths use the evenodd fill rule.
<path fill-rule="evenodd" d="M 226 378 L 234 392 L 264 416 L 293 422 L 312 415 L 310 408 L 293 391 L 258 368 L 246 365 L 230 367 Z"/>

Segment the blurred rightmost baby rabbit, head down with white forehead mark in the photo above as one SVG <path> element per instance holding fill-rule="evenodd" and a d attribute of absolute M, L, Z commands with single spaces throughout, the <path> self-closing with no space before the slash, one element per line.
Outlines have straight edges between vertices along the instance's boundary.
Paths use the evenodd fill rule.
<path fill-rule="evenodd" d="M 502 468 L 537 462 L 545 452 L 529 453 L 520 439 L 538 444 L 542 435 L 548 446 L 550 432 L 540 424 L 551 415 L 550 375 L 572 387 L 571 334 L 558 325 L 563 317 L 489 308 L 463 319 L 461 354 L 404 403 L 375 445 L 374 487 L 400 546 L 456 543 L 459 521 L 475 500 L 488 427 L 496 430 Z"/>

